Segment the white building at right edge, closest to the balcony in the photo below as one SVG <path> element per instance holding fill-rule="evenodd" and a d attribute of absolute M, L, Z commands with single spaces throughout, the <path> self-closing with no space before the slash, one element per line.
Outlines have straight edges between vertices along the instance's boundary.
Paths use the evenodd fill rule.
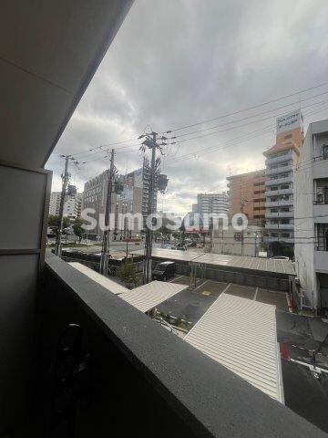
<path fill-rule="evenodd" d="M 306 304 L 328 311 L 328 120 L 311 123 L 295 172 L 296 272 Z"/>

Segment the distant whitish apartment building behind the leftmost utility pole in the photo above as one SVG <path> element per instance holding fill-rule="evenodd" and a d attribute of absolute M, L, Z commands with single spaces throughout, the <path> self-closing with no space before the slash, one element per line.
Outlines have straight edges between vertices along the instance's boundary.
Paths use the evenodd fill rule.
<path fill-rule="evenodd" d="M 50 194 L 49 214 L 57 216 L 60 209 L 61 192 Z M 77 193 L 75 185 L 69 185 L 64 203 L 64 216 L 76 219 L 81 214 L 82 194 Z"/>

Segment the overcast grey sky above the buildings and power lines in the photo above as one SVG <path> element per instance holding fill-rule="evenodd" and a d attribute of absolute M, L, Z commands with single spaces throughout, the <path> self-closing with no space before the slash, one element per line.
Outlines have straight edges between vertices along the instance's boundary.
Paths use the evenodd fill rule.
<path fill-rule="evenodd" d="M 150 128 L 188 134 L 164 147 L 169 187 L 159 210 L 187 213 L 197 193 L 225 190 L 230 172 L 260 169 L 277 115 L 301 105 L 305 128 L 328 118 L 328 84 L 247 110 L 328 81 L 327 16 L 326 0 L 136 0 L 47 162 L 53 190 L 60 153 L 93 160 L 71 167 L 83 191 L 108 167 L 106 153 L 90 149 Z M 116 148 L 120 172 L 140 167 L 137 141 Z"/>

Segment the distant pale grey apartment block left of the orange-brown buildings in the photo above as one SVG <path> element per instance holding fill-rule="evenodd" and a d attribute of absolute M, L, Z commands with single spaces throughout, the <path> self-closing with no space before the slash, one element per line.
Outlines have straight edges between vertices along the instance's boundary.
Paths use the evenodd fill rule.
<path fill-rule="evenodd" d="M 196 207 L 197 205 L 197 207 Z M 226 192 L 222 193 L 199 193 L 197 195 L 197 204 L 192 205 L 193 213 L 199 213 L 202 218 L 204 230 L 210 228 L 209 214 L 228 214 L 229 196 Z"/>

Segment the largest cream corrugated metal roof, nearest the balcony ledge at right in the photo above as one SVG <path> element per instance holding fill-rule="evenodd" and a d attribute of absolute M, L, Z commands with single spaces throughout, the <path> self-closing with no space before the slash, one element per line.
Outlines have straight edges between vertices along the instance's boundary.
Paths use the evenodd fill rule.
<path fill-rule="evenodd" d="M 223 293 L 185 340 L 283 402 L 275 306 Z"/>

